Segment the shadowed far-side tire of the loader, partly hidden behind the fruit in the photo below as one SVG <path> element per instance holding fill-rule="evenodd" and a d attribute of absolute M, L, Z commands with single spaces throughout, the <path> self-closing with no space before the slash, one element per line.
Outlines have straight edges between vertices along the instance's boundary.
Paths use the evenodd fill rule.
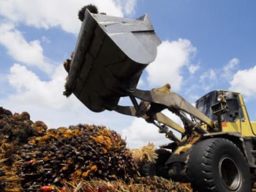
<path fill-rule="evenodd" d="M 168 178 L 168 170 L 165 168 L 165 162 L 171 156 L 171 152 L 165 149 L 157 149 L 156 154 L 158 154 L 156 162 L 145 162 L 140 170 L 140 175 L 144 177 L 160 176 Z"/>

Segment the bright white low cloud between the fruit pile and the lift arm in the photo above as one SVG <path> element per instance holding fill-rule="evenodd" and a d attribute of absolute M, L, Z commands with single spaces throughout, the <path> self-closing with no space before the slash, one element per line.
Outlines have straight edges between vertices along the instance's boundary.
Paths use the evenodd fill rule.
<path fill-rule="evenodd" d="M 181 125 L 181 120 L 169 111 L 163 111 L 165 115 Z M 177 136 L 179 133 L 173 131 Z M 170 143 L 163 133 L 158 132 L 158 127 L 147 123 L 144 119 L 137 118 L 129 128 L 122 130 L 122 138 L 126 138 L 129 148 L 138 148 L 152 142 L 155 146 Z"/>

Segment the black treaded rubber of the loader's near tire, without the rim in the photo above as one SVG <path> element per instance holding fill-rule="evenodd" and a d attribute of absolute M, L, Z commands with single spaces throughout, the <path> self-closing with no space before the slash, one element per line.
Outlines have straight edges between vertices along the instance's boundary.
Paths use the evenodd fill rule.
<path fill-rule="evenodd" d="M 197 189 L 198 192 L 216 191 L 217 188 L 220 187 L 220 184 L 216 183 L 214 179 L 216 170 L 213 170 L 213 164 L 215 162 L 214 158 L 216 156 L 216 152 L 218 152 L 218 150 L 221 150 L 221 146 L 228 146 L 229 148 L 233 149 L 233 152 L 236 151 L 236 154 L 239 156 L 239 158 L 242 159 L 241 161 L 245 162 L 245 164 L 247 163 L 244 154 L 242 154 L 241 150 L 236 146 L 236 144 L 234 144 L 230 140 L 227 140 L 225 138 L 210 138 L 200 141 L 193 146 L 192 152 L 190 153 L 189 162 L 187 164 L 187 172 L 192 182 L 192 186 L 194 186 L 194 188 Z M 245 172 L 247 173 L 248 170 L 246 170 Z M 248 175 L 246 175 L 246 177 L 248 177 Z M 247 186 L 245 186 L 245 188 L 246 187 Z M 247 191 L 239 190 L 237 192 Z"/>

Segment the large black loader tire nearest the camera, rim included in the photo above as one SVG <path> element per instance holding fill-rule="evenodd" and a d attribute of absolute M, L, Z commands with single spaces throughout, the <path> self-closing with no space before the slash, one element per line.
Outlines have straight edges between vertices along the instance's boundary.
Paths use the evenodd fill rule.
<path fill-rule="evenodd" d="M 224 138 L 195 144 L 187 167 L 194 191 L 252 191 L 250 169 L 244 155 L 236 144 Z"/>

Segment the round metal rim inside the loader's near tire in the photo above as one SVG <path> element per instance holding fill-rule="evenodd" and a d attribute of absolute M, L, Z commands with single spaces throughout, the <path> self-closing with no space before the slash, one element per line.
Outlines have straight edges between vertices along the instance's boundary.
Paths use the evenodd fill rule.
<path fill-rule="evenodd" d="M 236 161 L 231 159 L 231 157 L 224 156 L 220 159 L 219 173 L 229 190 L 236 191 L 240 188 L 242 183 L 242 173 Z"/>

